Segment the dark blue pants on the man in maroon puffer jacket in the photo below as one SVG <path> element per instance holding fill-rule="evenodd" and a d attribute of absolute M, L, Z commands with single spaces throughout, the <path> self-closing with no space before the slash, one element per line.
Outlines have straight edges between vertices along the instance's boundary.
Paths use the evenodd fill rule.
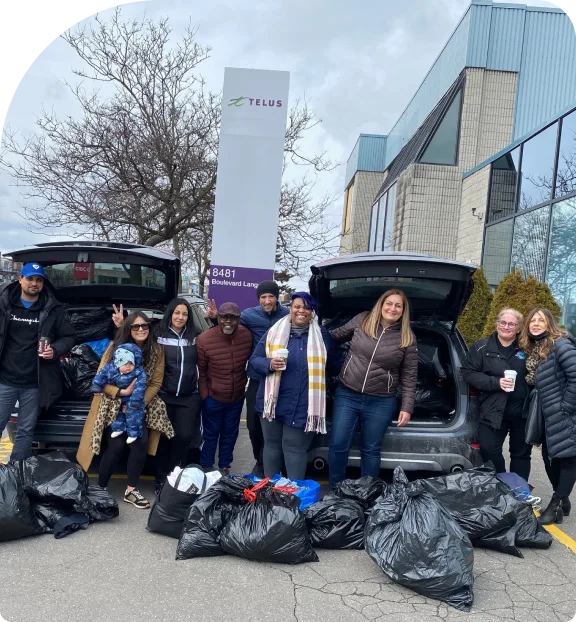
<path fill-rule="evenodd" d="M 202 404 L 202 449 L 200 465 L 203 469 L 214 466 L 218 447 L 218 468 L 229 469 L 232 465 L 234 446 L 240 431 L 244 398 L 230 404 L 207 397 Z"/>

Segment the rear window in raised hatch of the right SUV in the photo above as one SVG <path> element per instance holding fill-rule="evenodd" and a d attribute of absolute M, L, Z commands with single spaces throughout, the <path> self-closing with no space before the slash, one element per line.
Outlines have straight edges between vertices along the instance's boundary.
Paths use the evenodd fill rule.
<path fill-rule="evenodd" d="M 387 289 L 401 289 L 410 300 L 445 300 L 452 289 L 451 281 L 414 277 L 371 276 L 330 281 L 333 300 L 378 298 Z"/>

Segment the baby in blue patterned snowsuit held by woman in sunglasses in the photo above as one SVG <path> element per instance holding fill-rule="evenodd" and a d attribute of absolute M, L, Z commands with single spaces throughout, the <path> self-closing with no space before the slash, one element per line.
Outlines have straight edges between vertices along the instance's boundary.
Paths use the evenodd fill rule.
<path fill-rule="evenodd" d="M 133 443 L 144 433 L 144 393 L 146 373 L 142 367 L 142 350 L 134 343 L 125 343 L 114 351 L 113 359 L 104 365 L 92 382 L 92 392 L 102 393 L 105 385 L 127 389 L 136 380 L 132 395 L 121 398 L 122 405 L 118 417 L 110 426 L 112 438 L 124 432 L 128 434 L 127 443 Z"/>

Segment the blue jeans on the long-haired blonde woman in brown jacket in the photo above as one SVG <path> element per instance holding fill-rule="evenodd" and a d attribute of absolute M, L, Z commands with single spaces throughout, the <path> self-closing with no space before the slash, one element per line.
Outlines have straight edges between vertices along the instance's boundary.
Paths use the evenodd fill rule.
<path fill-rule="evenodd" d="M 378 477 L 384 434 L 396 414 L 395 397 L 377 397 L 339 386 L 334 397 L 328 452 L 330 488 L 346 478 L 348 453 L 360 422 L 362 476 Z"/>

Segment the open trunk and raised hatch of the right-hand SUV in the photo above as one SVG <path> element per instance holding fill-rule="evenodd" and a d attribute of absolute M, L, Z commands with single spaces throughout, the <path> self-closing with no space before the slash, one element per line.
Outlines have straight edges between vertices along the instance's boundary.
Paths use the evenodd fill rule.
<path fill-rule="evenodd" d="M 399 289 L 406 294 L 418 344 L 411 425 L 451 424 L 458 415 L 462 392 L 454 373 L 454 349 L 463 342 L 455 325 L 472 293 L 474 266 L 411 253 L 368 253 L 329 259 L 311 270 L 310 292 L 328 329 L 372 309 L 386 290 Z M 344 350 L 348 347 L 341 346 Z M 330 379 L 329 395 L 336 386 L 337 380 Z M 398 410 L 400 406 L 399 400 Z"/>

